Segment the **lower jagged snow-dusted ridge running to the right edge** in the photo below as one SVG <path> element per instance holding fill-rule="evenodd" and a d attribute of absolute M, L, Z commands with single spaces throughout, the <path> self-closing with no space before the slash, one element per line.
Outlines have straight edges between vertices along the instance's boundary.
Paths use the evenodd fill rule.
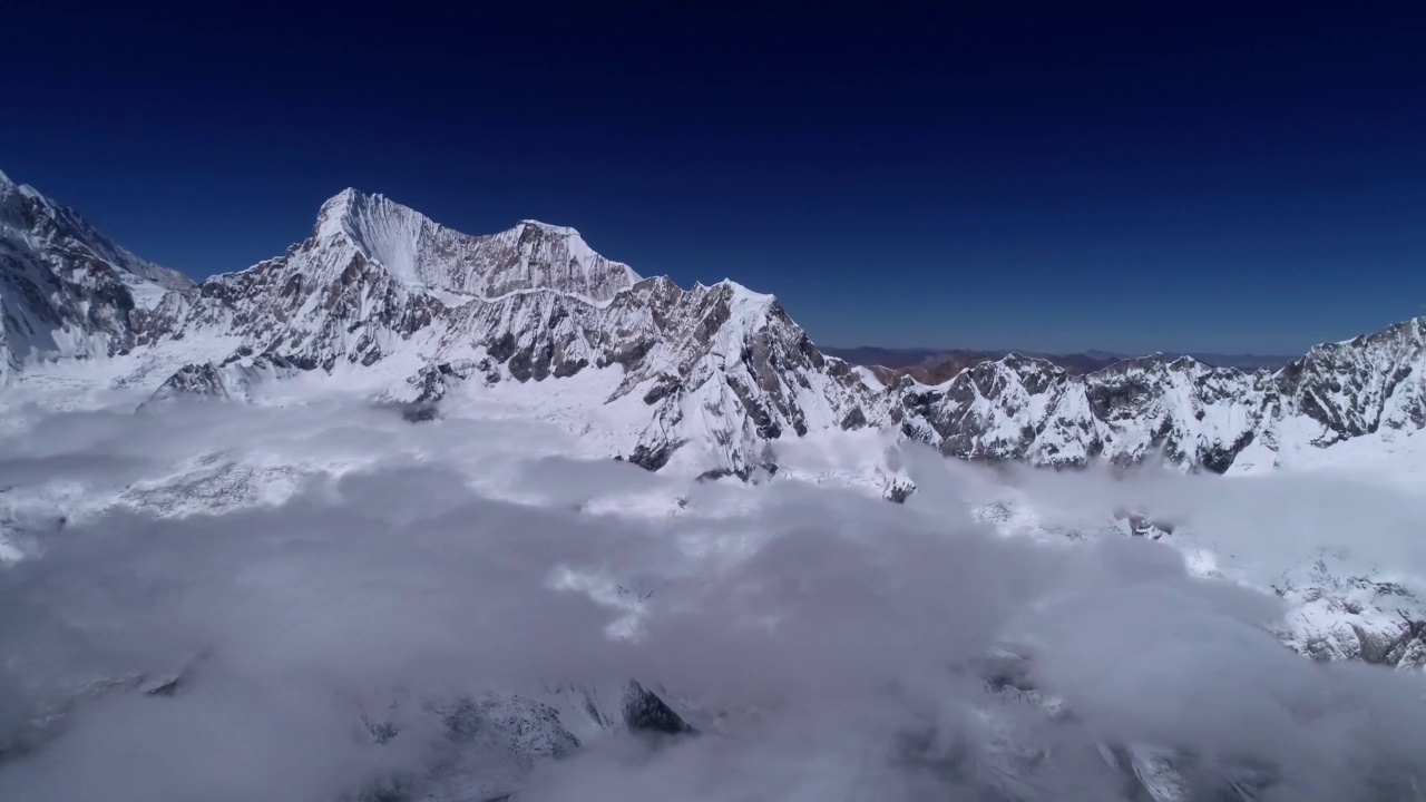
<path fill-rule="evenodd" d="M 894 392 L 903 432 L 953 457 L 1252 469 L 1426 425 L 1426 318 L 1318 345 L 1276 372 L 1142 357 L 1075 375 L 1011 354 Z"/>

